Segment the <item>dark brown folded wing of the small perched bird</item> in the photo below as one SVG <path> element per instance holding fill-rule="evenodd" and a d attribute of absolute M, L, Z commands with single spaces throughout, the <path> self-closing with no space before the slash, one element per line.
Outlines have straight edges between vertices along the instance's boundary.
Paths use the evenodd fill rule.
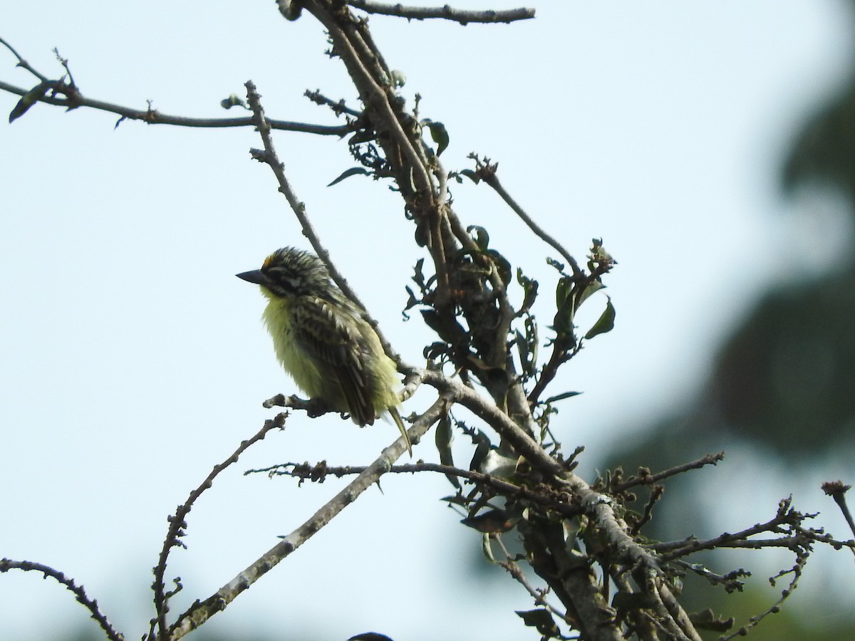
<path fill-rule="evenodd" d="M 347 409 L 359 425 L 374 423 L 369 373 L 354 316 L 319 297 L 300 297 L 293 303 L 293 331 L 304 350 L 328 367 L 338 381 Z M 330 381 L 334 385 L 334 381 Z M 332 401 L 333 399 L 327 399 Z"/>

